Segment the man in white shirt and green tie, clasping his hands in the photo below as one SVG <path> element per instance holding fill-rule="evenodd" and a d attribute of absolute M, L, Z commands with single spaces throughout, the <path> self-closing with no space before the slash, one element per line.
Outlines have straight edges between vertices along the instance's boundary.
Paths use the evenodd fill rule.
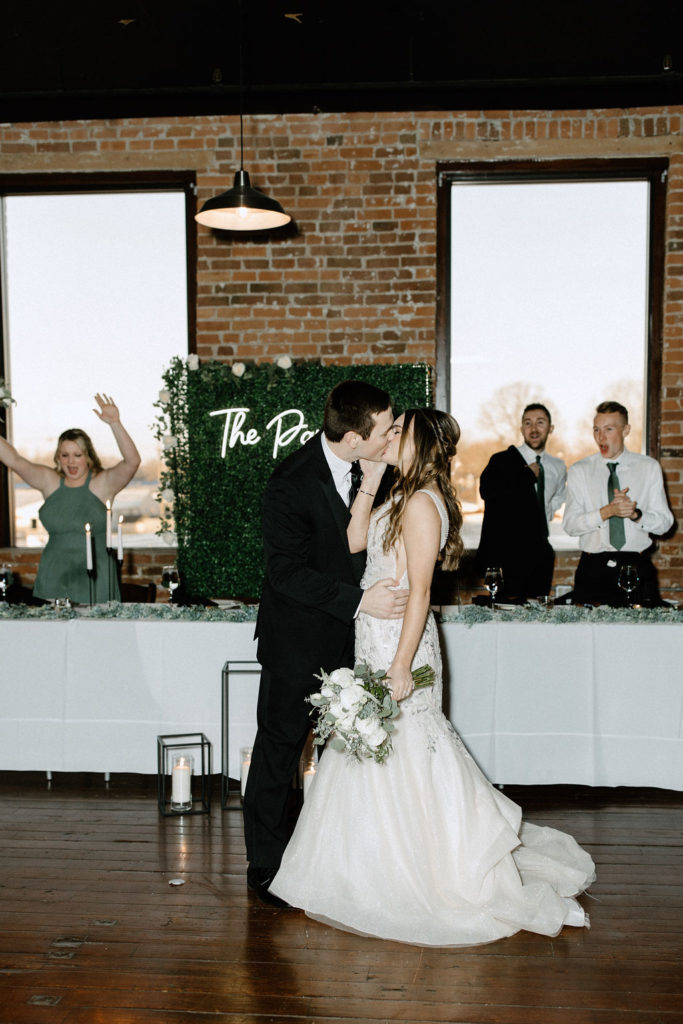
<path fill-rule="evenodd" d="M 599 452 L 569 469 L 562 524 L 569 537 L 579 538 L 582 551 L 574 578 L 577 604 L 661 603 L 652 537 L 666 534 L 674 517 L 658 462 L 629 452 L 625 440 L 630 432 L 625 407 L 601 402 L 593 421 Z M 635 566 L 638 574 L 630 595 L 623 578 L 620 586 L 625 565 Z"/>

